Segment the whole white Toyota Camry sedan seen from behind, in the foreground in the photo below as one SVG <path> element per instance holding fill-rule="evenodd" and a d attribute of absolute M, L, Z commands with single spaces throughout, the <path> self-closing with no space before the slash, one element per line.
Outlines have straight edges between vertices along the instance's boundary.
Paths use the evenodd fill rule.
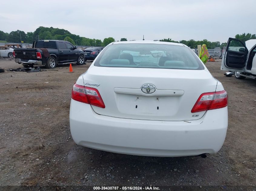
<path fill-rule="evenodd" d="M 75 143 L 115 153 L 178 157 L 216 153 L 228 96 L 188 46 L 122 41 L 106 46 L 73 86 Z"/>

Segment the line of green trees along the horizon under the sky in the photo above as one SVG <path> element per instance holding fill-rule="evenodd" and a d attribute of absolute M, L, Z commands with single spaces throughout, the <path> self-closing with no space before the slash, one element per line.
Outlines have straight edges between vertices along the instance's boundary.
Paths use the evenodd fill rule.
<path fill-rule="evenodd" d="M 256 39 L 255 34 L 243 33 L 237 34 L 235 38 L 242 40 L 243 42 Z M 90 39 L 86 37 L 80 37 L 70 33 L 68 30 L 53 28 L 53 27 L 38 27 L 34 32 L 25 33 L 22 30 L 12 31 L 10 33 L 5 33 L 0 30 L 0 42 L 9 42 L 9 43 L 33 43 L 36 40 L 66 40 L 71 42 L 73 45 L 78 46 L 107 46 L 109 43 L 114 42 L 113 37 L 105 38 L 103 41 L 100 39 Z M 118 40 L 117 40 L 118 41 Z M 121 38 L 120 41 L 127 41 L 127 38 Z M 219 41 L 211 42 L 207 39 L 204 40 L 180 40 L 175 41 L 168 39 L 161 39 L 160 41 L 165 42 L 174 42 L 174 43 L 183 43 L 190 48 L 197 48 L 199 44 L 206 44 L 208 49 L 214 49 L 215 47 L 224 47 L 227 43 L 220 43 Z"/>

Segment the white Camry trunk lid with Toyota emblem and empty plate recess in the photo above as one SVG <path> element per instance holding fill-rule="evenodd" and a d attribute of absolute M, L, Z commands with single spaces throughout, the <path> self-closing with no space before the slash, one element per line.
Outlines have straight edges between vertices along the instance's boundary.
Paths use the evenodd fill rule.
<path fill-rule="evenodd" d="M 105 103 L 104 109 L 92 106 L 95 113 L 163 121 L 201 118 L 205 111 L 191 113 L 191 109 L 202 93 L 213 92 L 217 86 L 206 70 L 93 66 L 83 79 L 85 86 L 98 89 Z M 143 93 L 144 84 L 154 85 L 155 92 Z"/>

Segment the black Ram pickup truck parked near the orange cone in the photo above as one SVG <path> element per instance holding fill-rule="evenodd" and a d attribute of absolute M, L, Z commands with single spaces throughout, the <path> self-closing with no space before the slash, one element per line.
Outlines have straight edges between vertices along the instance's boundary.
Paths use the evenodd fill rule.
<path fill-rule="evenodd" d="M 14 49 L 13 55 L 15 62 L 22 64 L 25 68 L 34 67 L 34 65 L 55 68 L 57 64 L 85 64 L 84 52 L 63 40 L 38 40 L 33 43 L 33 48 Z"/>

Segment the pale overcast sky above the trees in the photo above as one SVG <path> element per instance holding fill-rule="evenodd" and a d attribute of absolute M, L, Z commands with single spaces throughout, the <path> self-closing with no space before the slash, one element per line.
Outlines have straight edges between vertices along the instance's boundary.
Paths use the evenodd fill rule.
<path fill-rule="evenodd" d="M 11 8 L 10 8 L 11 5 Z M 12 0 L 0 2 L 0 30 L 63 28 L 80 37 L 227 42 L 256 33 L 255 0 Z"/>

